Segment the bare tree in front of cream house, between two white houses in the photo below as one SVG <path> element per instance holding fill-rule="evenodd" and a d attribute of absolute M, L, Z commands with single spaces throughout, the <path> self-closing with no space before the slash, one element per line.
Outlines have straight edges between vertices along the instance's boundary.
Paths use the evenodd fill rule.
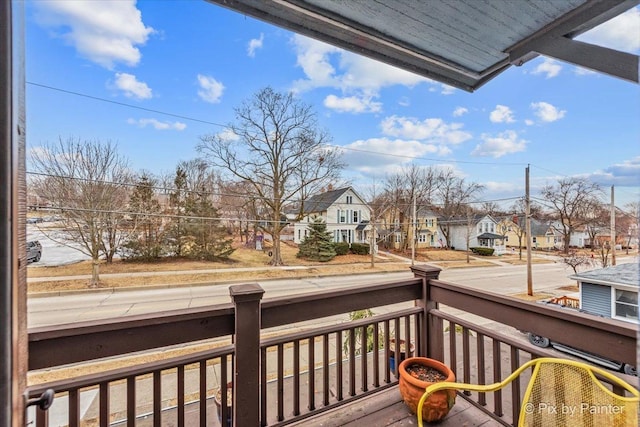
<path fill-rule="evenodd" d="M 480 184 L 467 183 L 464 178 L 457 176 L 450 169 L 440 175 L 440 182 L 436 189 L 437 202 L 441 205 L 438 223 L 447 248 L 450 247 L 449 239 L 451 238 L 448 224 L 456 217 L 466 218 L 468 204 L 483 189 L 484 187 Z"/>

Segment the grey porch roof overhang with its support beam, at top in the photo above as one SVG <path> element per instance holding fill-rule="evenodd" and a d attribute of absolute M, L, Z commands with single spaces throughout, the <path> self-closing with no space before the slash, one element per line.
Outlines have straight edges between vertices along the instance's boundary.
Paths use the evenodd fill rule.
<path fill-rule="evenodd" d="M 638 82 L 638 56 L 573 40 L 640 0 L 208 0 L 473 91 L 538 55 Z"/>

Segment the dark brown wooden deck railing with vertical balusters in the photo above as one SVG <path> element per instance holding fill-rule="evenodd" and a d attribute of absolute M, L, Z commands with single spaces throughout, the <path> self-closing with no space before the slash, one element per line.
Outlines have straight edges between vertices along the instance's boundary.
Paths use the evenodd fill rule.
<path fill-rule="evenodd" d="M 414 343 L 417 355 L 445 361 L 460 380 L 480 383 L 499 380 L 545 354 L 453 316 L 450 308 L 635 361 L 633 325 L 439 281 L 437 268 L 412 270 L 415 278 L 409 280 L 264 300 L 258 285 L 236 285 L 230 288 L 233 304 L 32 329 L 34 371 L 194 342 L 210 349 L 39 384 L 29 388 L 29 396 L 54 389 L 54 408 L 70 426 L 88 420 L 132 426 L 141 418 L 154 426 L 215 425 L 218 418 L 232 418 L 235 425 L 286 425 L 397 384 L 389 354 L 400 354 L 401 340 Z M 382 306 L 382 314 L 347 321 L 348 313 L 379 312 Z M 295 331 L 287 330 L 294 324 Z M 511 399 L 500 393 L 462 397 L 510 425 L 518 411 L 510 402 L 518 402 L 521 392 L 516 384 Z M 215 400 L 222 401 L 218 414 Z M 37 426 L 48 425 L 44 411 L 37 410 L 34 419 Z"/>

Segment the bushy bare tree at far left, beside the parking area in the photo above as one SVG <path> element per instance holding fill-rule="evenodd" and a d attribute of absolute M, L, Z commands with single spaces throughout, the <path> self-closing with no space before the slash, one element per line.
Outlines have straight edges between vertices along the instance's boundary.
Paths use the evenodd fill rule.
<path fill-rule="evenodd" d="M 31 153 L 39 173 L 37 194 L 60 209 L 62 230 L 46 231 L 52 240 L 92 260 L 91 286 L 99 284 L 100 257 L 107 262 L 126 239 L 121 207 L 126 206 L 131 173 L 111 142 L 68 138 Z"/>

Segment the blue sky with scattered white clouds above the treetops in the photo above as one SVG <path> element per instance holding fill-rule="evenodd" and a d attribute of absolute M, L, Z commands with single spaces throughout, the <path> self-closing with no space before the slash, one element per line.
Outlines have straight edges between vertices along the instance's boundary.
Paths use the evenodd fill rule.
<path fill-rule="evenodd" d="M 28 149 L 110 140 L 136 171 L 173 171 L 271 86 L 313 105 L 356 189 L 414 162 L 508 199 L 530 164 L 534 195 L 579 176 L 640 198 L 637 84 L 539 57 L 467 93 L 205 1 L 25 5 Z M 640 8 L 580 40 L 640 53 Z"/>

